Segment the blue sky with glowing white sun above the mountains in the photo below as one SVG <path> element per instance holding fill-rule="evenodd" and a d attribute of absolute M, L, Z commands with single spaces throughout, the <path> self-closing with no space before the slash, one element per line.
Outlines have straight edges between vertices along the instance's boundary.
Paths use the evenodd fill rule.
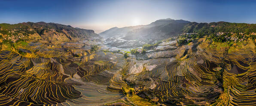
<path fill-rule="evenodd" d="M 0 23 L 53 22 L 96 33 L 158 19 L 256 24 L 256 0 L 0 0 Z"/>

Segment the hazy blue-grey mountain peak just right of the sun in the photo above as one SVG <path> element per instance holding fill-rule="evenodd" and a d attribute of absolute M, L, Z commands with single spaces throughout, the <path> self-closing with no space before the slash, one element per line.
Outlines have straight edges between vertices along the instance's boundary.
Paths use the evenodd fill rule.
<path fill-rule="evenodd" d="M 133 31 L 128 32 L 125 35 L 124 39 L 141 39 L 143 41 L 155 41 L 163 38 L 170 38 L 172 36 L 178 35 L 179 32 L 183 29 L 183 27 L 188 23 L 190 22 L 183 20 L 157 20 L 147 25 L 149 27 L 135 29 Z"/>

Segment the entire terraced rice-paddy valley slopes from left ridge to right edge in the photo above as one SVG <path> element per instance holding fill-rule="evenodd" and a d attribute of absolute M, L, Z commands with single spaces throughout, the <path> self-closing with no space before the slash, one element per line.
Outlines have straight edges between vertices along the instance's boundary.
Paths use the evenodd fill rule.
<path fill-rule="evenodd" d="M 256 105 L 254 32 L 209 25 L 131 50 L 71 26 L 1 26 L 0 105 Z"/>

